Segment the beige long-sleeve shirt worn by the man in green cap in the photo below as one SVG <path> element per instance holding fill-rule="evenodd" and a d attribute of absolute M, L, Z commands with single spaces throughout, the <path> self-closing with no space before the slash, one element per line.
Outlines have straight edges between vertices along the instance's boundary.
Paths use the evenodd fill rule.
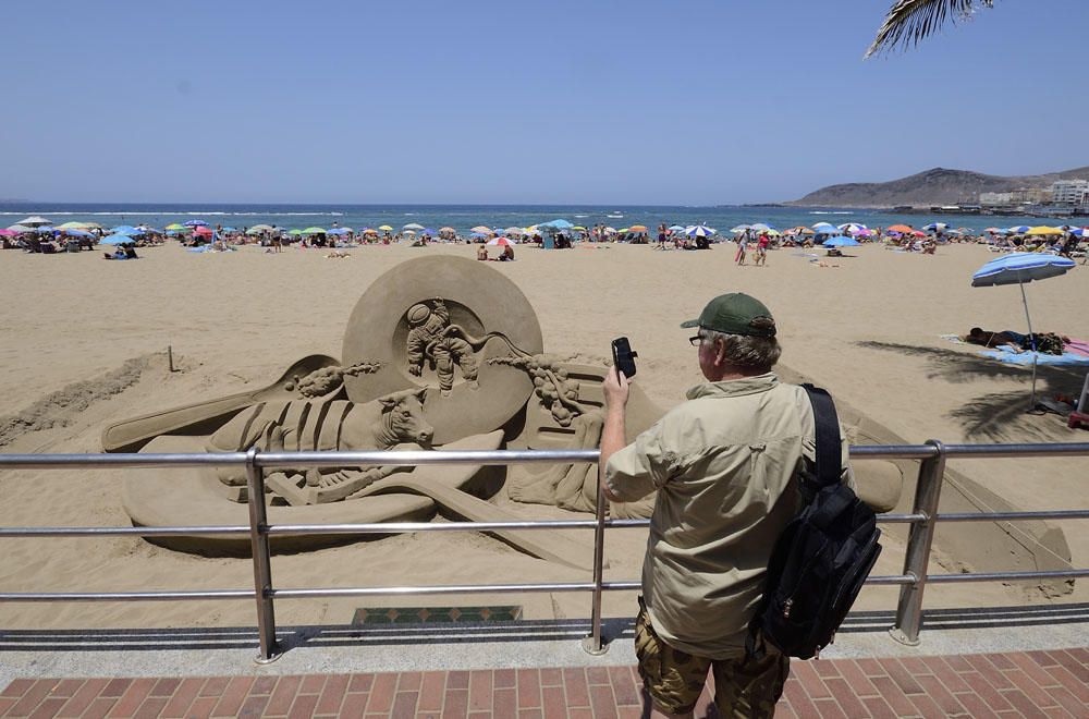
<path fill-rule="evenodd" d="M 812 462 L 812 405 L 774 373 L 698 385 L 617 451 L 609 490 L 658 490 L 643 566 L 651 624 L 670 645 L 726 658 L 745 651 L 775 540 L 799 509 L 797 474 Z M 854 487 L 844 432 L 842 475 Z"/>

